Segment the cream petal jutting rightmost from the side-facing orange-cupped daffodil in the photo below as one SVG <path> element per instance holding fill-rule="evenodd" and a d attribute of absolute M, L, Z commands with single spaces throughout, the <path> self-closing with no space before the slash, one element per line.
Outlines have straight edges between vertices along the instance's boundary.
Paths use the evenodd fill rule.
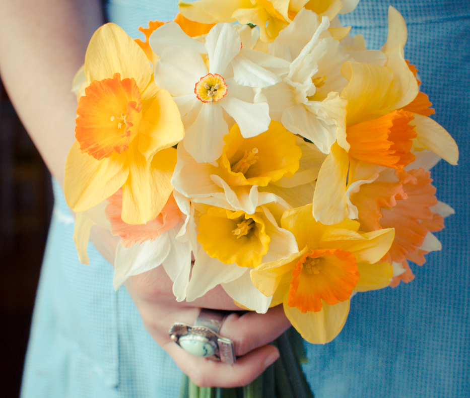
<path fill-rule="evenodd" d="M 450 134 L 430 117 L 413 114 L 413 124 L 418 133 L 416 140 L 425 148 L 431 150 L 446 162 L 456 165 L 458 161 L 458 148 Z"/>

